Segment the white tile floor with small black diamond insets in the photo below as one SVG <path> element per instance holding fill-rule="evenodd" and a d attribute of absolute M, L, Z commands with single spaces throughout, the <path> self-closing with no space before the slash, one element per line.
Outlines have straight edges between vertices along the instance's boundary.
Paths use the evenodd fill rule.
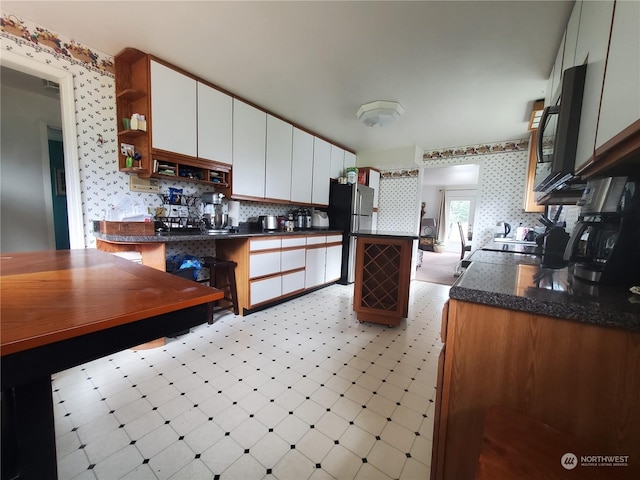
<path fill-rule="evenodd" d="M 428 478 L 448 291 L 413 282 L 390 328 L 332 285 L 60 372 L 59 478 Z"/>

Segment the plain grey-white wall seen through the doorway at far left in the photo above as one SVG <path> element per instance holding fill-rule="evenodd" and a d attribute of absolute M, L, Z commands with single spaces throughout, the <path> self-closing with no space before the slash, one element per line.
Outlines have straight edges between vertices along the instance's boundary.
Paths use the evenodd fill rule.
<path fill-rule="evenodd" d="M 43 168 L 48 151 L 42 151 L 41 140 L 43 125 L 61 126 L 60 101 L 8 86 L 2 87 L 1 101 L 0 250 L 53 250 L 46 211 L 51 187 Z"/>

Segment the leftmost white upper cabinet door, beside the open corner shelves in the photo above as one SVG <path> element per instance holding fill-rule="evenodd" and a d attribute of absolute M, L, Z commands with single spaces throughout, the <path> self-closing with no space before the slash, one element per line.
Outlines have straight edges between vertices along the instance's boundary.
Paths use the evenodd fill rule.
<path fill-rule="evenodd" d="M 196 157 L 196 80 L 151 60 L 152 147 Z"/>

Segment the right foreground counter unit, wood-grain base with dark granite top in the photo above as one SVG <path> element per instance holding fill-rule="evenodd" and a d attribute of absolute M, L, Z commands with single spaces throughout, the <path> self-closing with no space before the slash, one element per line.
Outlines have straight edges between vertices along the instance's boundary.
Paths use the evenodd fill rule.
<path fill-rule="evenodd" d="M 573 278 L 542 256 L 478 250 L 442 315 L 432 479 L 473 478 L 494 406 L 628 466 L 577 477 L 640 478 L 640 296 Z M 578 446 L 576 446 L 578 449 Z M 564 478 L 560 457 L 557 478 Z M 614 468 L 611 472 L 607 468 Z"/>

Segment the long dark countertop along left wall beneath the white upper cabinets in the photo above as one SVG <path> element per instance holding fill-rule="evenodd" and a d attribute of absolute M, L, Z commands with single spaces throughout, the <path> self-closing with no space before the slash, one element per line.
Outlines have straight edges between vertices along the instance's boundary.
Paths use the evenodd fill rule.
<path fill-rule="evenodd" d="M 273 232 L 230 232 L 217 233 L 212 235 L 193 234 L 193 233 L 166 233 L 156 235 L 140 235 L 140 236 L 124 236 L 124 235 L 105 235 L 103 233 L 94 232 L 94 236 L 100 240 L 118 243 L 170 243 L 170 242 L 191 242 L 198 240 L 237 240 L 239 238 L 255 238 L 255 237 L 274 237 L 289 235 L 342 235 L 340 230 L 296 230 L 293 232 L 284 232 L 275 230 Z"/>

